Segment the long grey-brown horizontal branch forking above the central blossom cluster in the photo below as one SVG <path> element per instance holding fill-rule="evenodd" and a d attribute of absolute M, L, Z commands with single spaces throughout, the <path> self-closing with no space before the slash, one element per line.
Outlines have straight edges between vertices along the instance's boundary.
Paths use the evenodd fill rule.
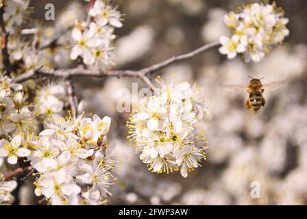
<path fill-rule="evenodd" d="M 153 64 L 147 68 L 143 68 L 141 70 L 95 70 L 95 69 L 86 69 L 83 66 L 78 66 L 77 68 L 68 68 L 68 69 L 38 69 L 34 72 L 24 73 L 15 77 L 14 81 L 16 83 L 21 83 L 23 81 L 27 81 L 28 79 L 35 79 L 38 76 L 42 77 L 79 77 L 79 76 L 86 76 L 86 77 L 138 77 L 142 79 L 149 88 L 154 88 L 153 83 L 151 83 L 149 77 L 147 75 L 151 73 L 155 73 L 156 71 L 160 70 L 161 68 L 167 67 L 175 62 L 180 62 L 182 60 L 188 60 L 198 55 L 199 53 L 203 53 L 209 49 L 214 47 L 219 47 L 219 42 L 212 42 L 210 44 L 205 44 L 194 51 L 189 53 L 173 56 L 168 60 L 164 60 L 163 62 L 159 62 L 158 64 Z"/>

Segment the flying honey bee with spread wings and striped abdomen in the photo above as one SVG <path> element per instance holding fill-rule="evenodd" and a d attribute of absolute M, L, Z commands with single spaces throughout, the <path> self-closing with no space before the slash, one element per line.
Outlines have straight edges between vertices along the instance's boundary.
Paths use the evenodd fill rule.
<path fill-rule="evenodd" d="M 271 83 L 265 83 L 262 84 L 261 79 L 251 78 L 251 81 L 249 81 L 249 85 L 247 86 L 241 86 L 237 84 L 229 84 L 225 85 L 224 87 L 228 90 L 232 90 L 234 92 L 243 92 L 244 90 L 247 90 L 247 93 L 249 94 L 248 99 L 245 103 L 245 107 L 247 109 L 251 109 L 255 112 L 255 114 L 260 110 L 260 107 L 265 106 L 265 98 L 262 96 L 262 93 L 267 90 L 275 90 L 277 88 L 280 88 L 280 86 L 284 85 L 286 81 L 273 81 Z"/>

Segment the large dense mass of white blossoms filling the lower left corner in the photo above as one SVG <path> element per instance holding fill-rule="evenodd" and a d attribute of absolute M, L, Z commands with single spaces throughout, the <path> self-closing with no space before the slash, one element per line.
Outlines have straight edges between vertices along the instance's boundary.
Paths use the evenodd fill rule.
<path fill-rule="evenodd" d="M 27 157 L 36 171 L 35 194 L 52 205 L 101 205 L 116 179 L 114 146 L 106 136 L 110 123 L 108 116 L 58 117 L 45 123 L 38 136 L 21 133 L 10 141 L 1 139 L 0 156 L 8 157 L 9 164 Z M 7 201 L 5 197 L 0 201 Z"/>

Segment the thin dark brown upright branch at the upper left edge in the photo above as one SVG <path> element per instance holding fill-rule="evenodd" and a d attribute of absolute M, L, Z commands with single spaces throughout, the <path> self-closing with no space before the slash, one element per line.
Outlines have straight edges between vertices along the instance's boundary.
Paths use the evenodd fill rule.
<path fill-rule="evenodd" d="M 10 63 L 10 54 L 8 53 L 8 32 L 5 30 L 5 23 L 3 20 L 4 14 L 4 2 L 0 3 L 0 31 L 1 31 L 1 53 L 2 53 L 2 63 L 5 68 L 5 74 L 10 75 L 12 72 L 12 65 Z"/>

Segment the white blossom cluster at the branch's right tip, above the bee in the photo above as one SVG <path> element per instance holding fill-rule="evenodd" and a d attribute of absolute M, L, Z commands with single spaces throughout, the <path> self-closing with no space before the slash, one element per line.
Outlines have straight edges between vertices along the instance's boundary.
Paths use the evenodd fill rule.
<path fill-rule="evenodd" d="M 288 18 L 275 3 L 252 3 L 229 12 L 224 16 L 225 24 L 232 30 L 232 36 L 221 36 L 220 53 L 229 59 L 241 53 L 246 62 L 260 62 L 271 49 L 282 44 L 289 31 Z"/>

